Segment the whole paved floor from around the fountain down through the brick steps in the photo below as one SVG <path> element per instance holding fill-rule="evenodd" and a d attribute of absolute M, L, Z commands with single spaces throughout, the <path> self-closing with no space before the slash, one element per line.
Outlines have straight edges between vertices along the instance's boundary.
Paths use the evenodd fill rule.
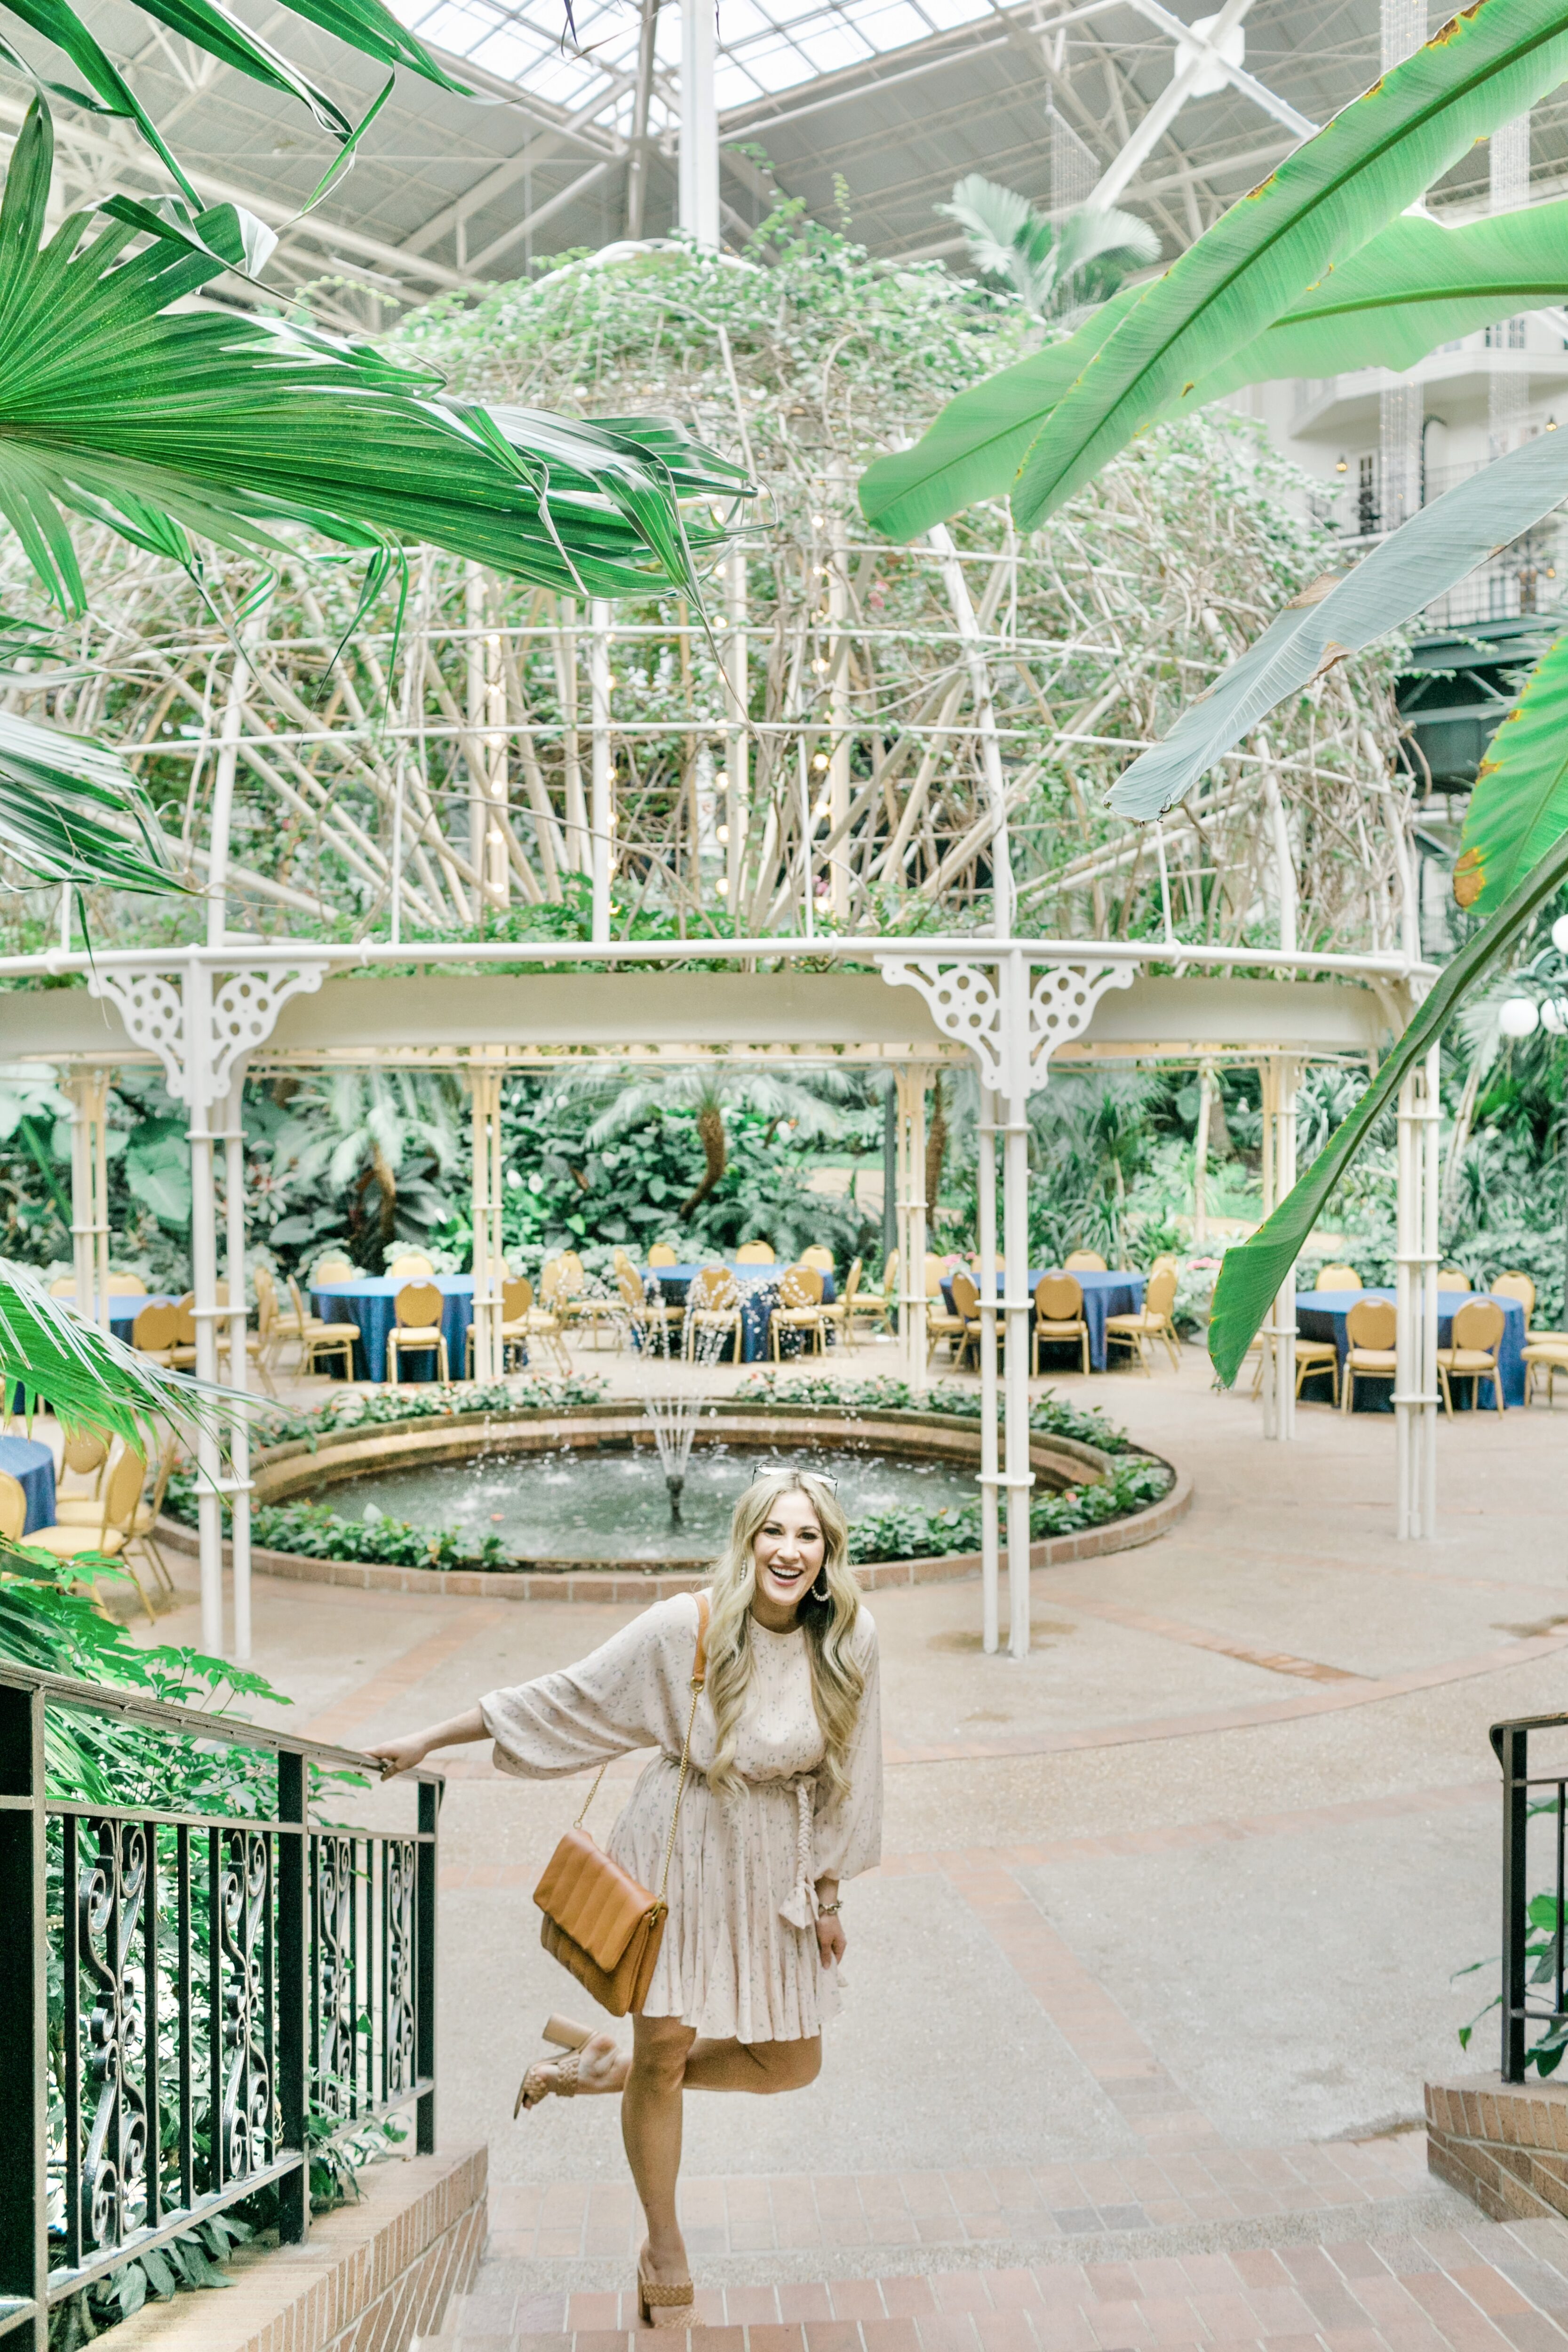
<path fill-rule="evenodd" d="M 884 1865 L 846 1893 L 820 2082 L 689 2100 L 696 2352 L 1568 2352 L 1568 2232 L 1483 2223 L 1418 2126 L 1486 1997 L 1455 1971 L 1495 1950 L 1488 1724 L 1563 1703 L 1561 1418 L 1443 1425 L 1439 1541 L 1399 1545 L 1375 1416 L 1262 1446 L 1192 1352 L 1058 1385 L 1190 1468 L 1194 1510 L 1037 1573 L 1023 1663 L 980 1656 L 973 1585 L 877 1595 Z M 256 1663 L 292 1722 L 364 1740 L 628 1616 L 261 1581 Z M 574 2006 L 529 1898 L 583 1792 L 442 1762 L 442 2136 L 491 2147 L 454 2331 L 611 2352 L 639 2239 L 616 2103 L 510 2119 Z"/>

